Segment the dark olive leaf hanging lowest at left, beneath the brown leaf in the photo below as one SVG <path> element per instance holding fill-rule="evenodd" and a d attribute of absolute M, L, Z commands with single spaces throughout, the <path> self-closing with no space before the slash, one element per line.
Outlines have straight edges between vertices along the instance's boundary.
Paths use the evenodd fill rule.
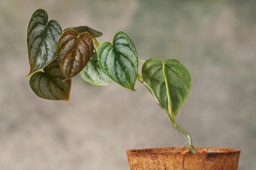
<path fill-rule="evenodd" d="M 29 84 L 35 94 L 44 99 L 50 100 L 67 100 L 69 101 L 69 92 L 71 80 L 64 81 L 58 60 L 54 60 L 43 71 L 34 73 Z"/>

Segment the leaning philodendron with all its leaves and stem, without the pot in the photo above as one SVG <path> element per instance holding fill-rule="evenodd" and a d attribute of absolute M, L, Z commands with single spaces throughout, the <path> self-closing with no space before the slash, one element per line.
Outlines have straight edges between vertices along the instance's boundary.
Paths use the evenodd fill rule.
<path fill-rule="evenodd" d="M 36 10 L 27 26 L 29 84 L 35 94 L 44 99 L 67 100 L 71 78 L 77 74 L 95 85 L 107 86 L 111 80 L 134 90 L 136 80 L 144 84 L 162 108 L 171 124 L 188 139 L 190 150 L 196 153 L 191 136 L 175 122 L 191 87 L 191 76 L 175 59 L 161 61 L 138 59 L 130 37 L 119 31 L 113 41 L 98 43 L 102 33 L 87 26 L 70 27 L 62 32 L 55 20 L 48 21 L 45 10 Z M 143 62 L 142 76 L 138 61 Z M 38 71 L 43 69 L 43 71 Z"/>

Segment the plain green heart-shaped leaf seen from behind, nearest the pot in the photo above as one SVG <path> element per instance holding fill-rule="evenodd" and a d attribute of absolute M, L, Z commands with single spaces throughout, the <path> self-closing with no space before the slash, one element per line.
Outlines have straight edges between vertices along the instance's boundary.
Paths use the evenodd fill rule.
<path fill-rule="evenodd" d="M 163 75 L 163 64 L 167 73 L 171 110 L 175 118 L 189 94 L 191 76 L 187 68 L 174 59 L 167 59 L 162 62 L 157 58 L 150 58 L 143 64 L 142 77 L 154 90 L 157 98 L 166 110 L 168 110 L 168 99 Z"/>

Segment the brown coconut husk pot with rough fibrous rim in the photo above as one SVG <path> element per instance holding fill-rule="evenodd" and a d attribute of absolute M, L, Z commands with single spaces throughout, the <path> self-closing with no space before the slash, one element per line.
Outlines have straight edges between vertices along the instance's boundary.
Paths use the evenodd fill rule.
<path fill-rule="evenodd" d="M 127 150 L 131 170 L 236 170 L 240 150 L 196 148 L 198 154 L 181 154 L 187 147 Z M 206 153 L 207 152 L 207 153 Z"/>

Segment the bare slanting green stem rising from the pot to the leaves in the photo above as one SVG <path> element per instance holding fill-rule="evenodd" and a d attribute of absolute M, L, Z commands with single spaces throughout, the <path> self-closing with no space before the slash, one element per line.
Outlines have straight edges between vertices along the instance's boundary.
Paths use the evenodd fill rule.
<path fill-rule="evenodd" d="M 189 146 L 190 146 L 190 150 L 192 153 L 197 153 L 194 149 L 194 146 L 193 146 L 193 142 L 192 142 L 192 138 L 190 136 L 189 133 L 187 133 L 185 130 L 183 130 L 182 128 L 180 128 L 174 119 L 172 119 L 172 117 L 170 116 L 169 112 L 166 111 L 166 109 L 163 107 L 162 103 L 158 100 L 157 96 L 155 95 L 155 92 L 153 91 L 153 89 L 149 86 L 149 84 L 147 84 L 145 82 L 145 80 L 141 77 L 141 75 L 139 75 L 139 73 L 137 74 L 137 80 L 139 82 L 141 82 L 142 84 L 144 84 L 147 89 L 150 91 L 150 93 L 153 95 L 155 101 L 157 102 L 157 105 L 163 110 L 163 112 L 165 112 L 166 116 L 168 117 L 169 121 L 171 122 L 171 124 L 173 125 L 173 127 L 175 129 L 178 129 L 179 131 L 181 131 L 184 135 L 186 135 L 188 141 L 189 141 Z"/>

